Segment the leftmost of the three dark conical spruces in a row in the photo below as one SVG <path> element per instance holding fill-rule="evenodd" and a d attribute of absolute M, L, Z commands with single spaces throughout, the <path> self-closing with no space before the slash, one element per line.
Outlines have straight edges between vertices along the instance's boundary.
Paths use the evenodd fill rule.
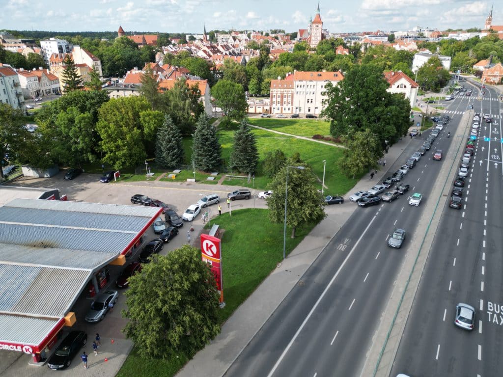
<path fill-rule="evenodd" d="M 169 115 L 157 131 L 155 141 L 155 162 L 163 167 L 176 168 L 184 162 L 182 135 Z"/>

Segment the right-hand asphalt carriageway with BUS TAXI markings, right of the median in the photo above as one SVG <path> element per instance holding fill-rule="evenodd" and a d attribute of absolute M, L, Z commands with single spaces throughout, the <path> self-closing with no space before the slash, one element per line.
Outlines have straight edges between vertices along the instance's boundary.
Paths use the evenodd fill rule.
<path fill-rule="evenodd" d="M 463 208 L 450 209 L 447 204 L 444 209 L 392 376 L 501 375 L 503 130 L 498 93 L 490 88 L 481 90 L 485 96 L 474 97 L 474 110 L 497 118 L 491 124 L 481 122 Z M 467 99 L 456 101 L 466 103 Z M 476 309 L 473 331 L 454 325 L 459 302 Z"/>

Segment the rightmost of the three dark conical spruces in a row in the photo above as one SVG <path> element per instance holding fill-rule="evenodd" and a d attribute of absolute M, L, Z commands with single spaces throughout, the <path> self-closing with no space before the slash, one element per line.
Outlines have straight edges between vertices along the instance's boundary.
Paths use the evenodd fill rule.
<path fill-rule="evenodd" d="M 257 140 L 248 125 L 248 119 L 241 120 L 234 132 L 234 147 L 230 155 L 230 168 L 240 173 L 254 172 L 259 163 Z"/>

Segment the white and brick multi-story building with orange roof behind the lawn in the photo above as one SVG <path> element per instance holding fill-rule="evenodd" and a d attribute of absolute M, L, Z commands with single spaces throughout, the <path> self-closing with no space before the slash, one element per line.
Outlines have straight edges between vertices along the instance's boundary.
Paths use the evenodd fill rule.
<path fill-rule="evenodd" d="M 323 110 L 326 84 L 337 85 L 342 72 L 294 71 L 284 80 L 272 80 L 270 91 L 271 114 L 314 114 Z"/>

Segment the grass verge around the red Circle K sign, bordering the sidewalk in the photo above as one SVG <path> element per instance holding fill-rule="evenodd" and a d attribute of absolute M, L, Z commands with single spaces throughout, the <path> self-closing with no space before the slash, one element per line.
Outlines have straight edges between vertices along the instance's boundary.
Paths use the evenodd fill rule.
<path fill-rule="evenodd" d="M 212 219 L 206 228 L 217 223 L 224 230 L 222 237 L 223 292 L 225 308 L 220 311 L 220 323 L 253 293 L 259 284 L 276 268 L 283 258 L 283 225 L 272 224 L 268 210 L 244 209 Z M 287 254 L 311 231 L 314 224 L 297 229 L 296 238 L 289 237 L 287 229 Z M 246 229 L 246 231 L 243 231 Z M 243 250 L 243 245 L 246 249 Z M 173 360 L 145 359 L 136 350 L 127 357 L 117 377 L 170 377 L 185 364 L 186 355 Z"/>

